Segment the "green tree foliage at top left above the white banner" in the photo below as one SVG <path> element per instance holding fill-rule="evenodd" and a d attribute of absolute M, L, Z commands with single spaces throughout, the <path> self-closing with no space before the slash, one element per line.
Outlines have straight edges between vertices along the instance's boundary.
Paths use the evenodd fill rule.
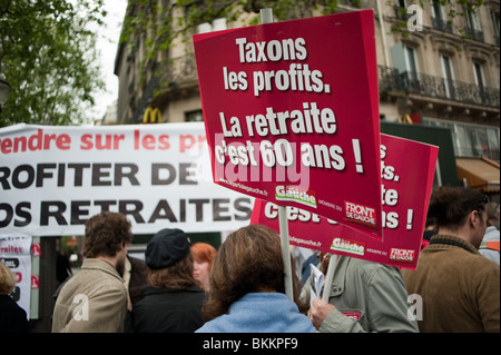
<path fill-rule="evenodd" d="M 104 88 L 96 65 L 104 0 L 0 2 L 0 72 L 11 91 L 0 127 L 13 124 L 76 125 Z"/>

